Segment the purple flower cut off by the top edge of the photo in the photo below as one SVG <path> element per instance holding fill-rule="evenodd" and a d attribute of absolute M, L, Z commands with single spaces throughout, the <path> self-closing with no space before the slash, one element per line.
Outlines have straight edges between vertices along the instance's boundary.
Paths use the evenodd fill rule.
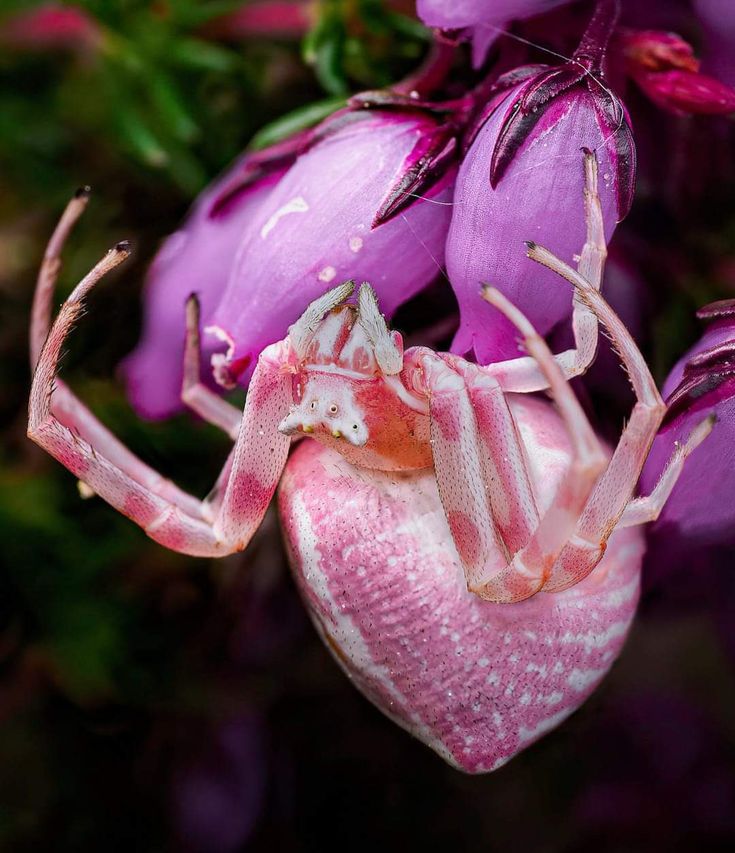
<path fill-rule="evenodd" d="M 548 12 L 569 0 L 417 0 L 416 12 L 430 27 L 467 29 L 475 66 L 511 21 Z"/>

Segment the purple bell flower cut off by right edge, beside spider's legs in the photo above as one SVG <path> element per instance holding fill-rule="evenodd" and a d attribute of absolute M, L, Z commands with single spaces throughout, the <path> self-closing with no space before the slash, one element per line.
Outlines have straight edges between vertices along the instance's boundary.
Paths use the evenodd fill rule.
<path fill-rule="evenodd" d="M 710 325 L 666 380 L 669 411 L 648 456 L 642 492 L 654 487 L 676 442 L 708 415 L 717 421 L 687 461 L 653 527 L 657 562 L 735 544 L 735 300 L 708 305 L 698 316 Z"/>

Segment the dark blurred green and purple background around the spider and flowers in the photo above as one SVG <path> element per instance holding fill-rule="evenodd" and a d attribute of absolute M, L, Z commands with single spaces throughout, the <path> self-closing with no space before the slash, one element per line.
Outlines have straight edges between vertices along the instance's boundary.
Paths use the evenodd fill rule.
<path fill-rule="evenodd" d="M 245 555 L 178 556 L 81 500 L 26 439 L 35 272 L 66 200 L 90 184 L 57 301 L 116 241 L 131 239 L 135 254 L 90 300 L 64 375 L 185 487 L 204 494 L 218 471 L 226 439 L 186 417 L 140 422 L 116 381 L 146 265 L 256 131 L 390 83 L 427 44 L 411 3 L 242 14 L 249 5 L 0 9 L 0 848 L 732 849 L 731 554 L 647 583 L 592 699 L 497 773 L 471 778 L 337 668 L 298 600 L 275 515 Z M 39 7 L 66 17 L 24 17 Z M 656 135 L 679 121 L 659 118 Z M 701 124 L 676 133 L 685 151 L 698 134 L 709 145 Z M 699 207 L 684 195 L 662 203 L 675 180 L 644 178 L 627 238 L 648 281 L 642 345 L 659 379 L 697 334 L 693 308 L 735 295 L 732 183 Z"/>

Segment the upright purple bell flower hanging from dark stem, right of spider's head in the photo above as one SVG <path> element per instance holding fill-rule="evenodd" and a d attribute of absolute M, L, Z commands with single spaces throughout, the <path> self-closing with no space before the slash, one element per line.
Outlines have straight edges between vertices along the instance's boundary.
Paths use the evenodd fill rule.
<path fill-rule="evenodd" d="M 515 330 L 477 301 L 485 282 L 502 290 L 542 334 L 570 314 L 571 290 L 528 260 L 523 244 L 538 240 L 574 263 L 585 240 L 582 149 L 597 157 L 608 240 L 628 212 L 635 147 L 625 110 L 601 71 L 615 12 L 614 3 L 598 4 L 566 65 L 529 69 L 526 79 L 524 69 L 512 72 L 514 85 L 496 96 L 479 122 L 457 178 L 446 248 L 461 311 L 455 352 L 474 351 L 483 363 L 518 355 Z"/>

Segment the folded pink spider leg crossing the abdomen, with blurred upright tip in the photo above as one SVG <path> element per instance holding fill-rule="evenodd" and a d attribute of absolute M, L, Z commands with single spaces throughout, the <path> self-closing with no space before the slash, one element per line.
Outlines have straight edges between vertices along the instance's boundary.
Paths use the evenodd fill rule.
<path fill-rule="evenodd" d="M 526 348 L 538 361 L 552 396 L 566 424 L 572 444 L 572 460 L 552 505 L 538 520 L 530 496 L 530 483 L 522 453 L 513 448 L 516 433 L 508 430 L 505 441 L 518 463 L 508 464 L 503 453 L 493 458 L 492 442 L 499 431 L 492 429 L 492 416 L 503 415 L 503 408 L 487 405 L 478 412 L 466 379 L 449 365 L 430 354 L 420 359 L 429 400 L 432 452 L 439 495 L 449 528 L 465 571 L 467 585 L 481 598 L 491 601 L 520 601 L 538 592 L 548 578 L 555 559 L 573 535 L 606 456 L 597 436 L 582 411 L 571 387 L 555 362 L 546 343 L 529 321 L 498 291 L 487 289 L 485 298 L 496 305 L 523 333 Z M 450 362 L 451 363 L 451 362 Z M 471 370 L 471 368 L 468 368 Z M 488 377 L 483 377 L 485 380 Z M 481 386 L 480 386 L 481 387 Z M 484 389 L 487 391 L 487 389 Z M 474 388 L 475 399 L 483 402 Z M 486 396 L 485 402 L 488 397 Z M 508 413 L 510 414 L 510 413 Z M 478 425 L 490 427 L 483 436 Z M 483 440 L 485 439 L 485 440 Z M 488 447 L 489 445 L 489 447 Z M 490 463 L 487 465 L 488 450 Z M 506 464 L 505 470 L 503 469 Z M 487 467 L 486 467 L 487 465 Z M 501 479 L 492 486 L 492 468 L 502 470 Z M 504 486 L 511 484 L 508 500 Z M 493 492 L 493 489 L 495 490 Z M 495 499 L 494 499 L 495 498 Z M 502 502 L 515 509 L 512 550 L 502 534 L 498 516 Z M 530 509 L 529 509 L 530 502 Z M 518 525 L 518 520 L 522 524 Z"/>

